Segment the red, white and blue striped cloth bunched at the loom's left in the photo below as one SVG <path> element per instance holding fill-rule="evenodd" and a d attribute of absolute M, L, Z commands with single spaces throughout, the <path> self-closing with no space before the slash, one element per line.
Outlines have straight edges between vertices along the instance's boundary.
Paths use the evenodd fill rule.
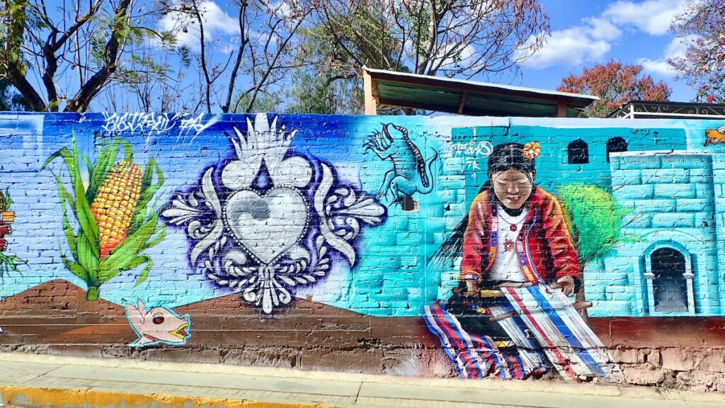
<path fill-rule="evenodd" d="M 458 319 L 438 302 L 426 306 L 423 319 L 428 329 L 438 336 L 460 377 L 484 378 L 493 375 L 504 380 L 523 379 L 536 368 L 533 367 L 536 360 L 528 354 L 503 354 L 488 336 L 463 330 Z"/>

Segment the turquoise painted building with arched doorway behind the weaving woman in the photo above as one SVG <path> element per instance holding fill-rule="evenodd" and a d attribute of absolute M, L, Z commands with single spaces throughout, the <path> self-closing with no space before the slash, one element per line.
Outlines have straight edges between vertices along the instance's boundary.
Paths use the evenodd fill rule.
<path fill-rule="evenodd" d="M 471 144 L 481 135 L 492 146 L 512 138 L 522 143 L 527 137 L 539 140 L 541 187 L 555 193 L 563 184 L 584 183 L 613 192 L 627 211 L 624 240 L 604 258 L 587 264 L 584 288 L 587 300 L 595 304 L 590 316 L 725 314 L 720 266 L 725 261 L 725 161 L 719 144 L 703 146 L 705 128 L 716 127 L 713 123 L 700 121 L 701 127 L 693 128 L 667 121 L 666 127 L 657 128 L 657 121 L 647 121 L 647 127 L 639 126 L 642 121 L 608 121 L 634 126 L 548 128 L 521 122 L 527 120 L 513 119 L 510 126 L 454 128 L 452 143 Z M 486 180 L 485 160 L 479 162 L 468 163 L 466 203 Z M 448 277 L 441 297 L 455 285 L 455 272 Z"/>

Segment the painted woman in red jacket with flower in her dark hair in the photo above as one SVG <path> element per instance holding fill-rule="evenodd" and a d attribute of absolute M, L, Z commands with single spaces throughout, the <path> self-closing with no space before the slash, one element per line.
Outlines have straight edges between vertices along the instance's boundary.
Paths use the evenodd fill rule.
<path fill-rule="evenodd" d="M 489 156 L 489 181 L 463 234 L 460 280 L 468 291 L 543 279 L 573 292 L 576 250 L 559 201 L 535 184 L 538 156 L 536 142 L 499 144 Z"/>

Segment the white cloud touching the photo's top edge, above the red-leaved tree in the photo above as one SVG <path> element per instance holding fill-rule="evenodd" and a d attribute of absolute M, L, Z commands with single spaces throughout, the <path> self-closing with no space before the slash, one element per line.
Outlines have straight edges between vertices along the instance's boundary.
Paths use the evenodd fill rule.
<path fill-rule="evenodd" d="M 632 25 L 653 36 L 662 36 L 685 4 L 687 0 L 619 0 L 608 7 L 602 17 L 616 25 Z"/>

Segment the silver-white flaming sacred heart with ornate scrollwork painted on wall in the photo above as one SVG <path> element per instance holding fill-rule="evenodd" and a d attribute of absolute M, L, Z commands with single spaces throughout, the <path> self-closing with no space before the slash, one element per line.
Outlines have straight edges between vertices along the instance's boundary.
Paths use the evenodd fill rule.
<path fill-rule="evenodd" d="M 198 189 L 175 195 L 162 216 L 185 227 L 189 263 L 218 287 L 240 292 L 265 314 L 289 304 L 294 287 L 331 272 L 331 252 L 355 266 L 362 226 L 381 224 L 373 195 L 341 184 L 334 168 L 295 155 L 296 131 L 258 114 L 233 128 L 236 158 L 204 171 Z"/>

